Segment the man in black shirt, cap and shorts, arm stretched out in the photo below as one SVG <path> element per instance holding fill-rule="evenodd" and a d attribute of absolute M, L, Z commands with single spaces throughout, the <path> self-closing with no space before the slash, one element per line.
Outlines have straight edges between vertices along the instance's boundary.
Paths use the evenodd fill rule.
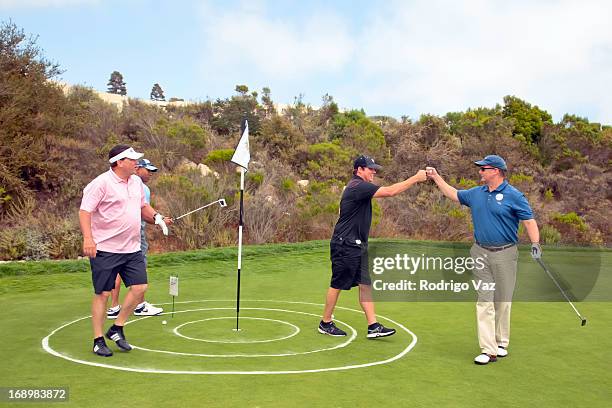
<path fill-rule="evenodd" d="M 368 321 L 367 337 L 391 336 L 395 330 L 384 327 L 376 321 L 372 302 L 372 283 L 368 274 L 368 235 L 372 224 L 372 198 L 393 197 L 406 191 L 414 184 L 426 181 L 425 170 L 414 176 L 387 187 L 372 184 L 374 175 L 382 167 L 368 156 L 359 156 L 353 164 L 353 178 L 349 181 L 340 201 L 340 218 L 334 228 L 330 242 L 332 278 L 319 333 L 330 336 L 346 336 L 332 321 L 332 313 L 341 290 L 359 286 L 359 303 Z M 362 258 L 365 258 L 362 262 Z"/>

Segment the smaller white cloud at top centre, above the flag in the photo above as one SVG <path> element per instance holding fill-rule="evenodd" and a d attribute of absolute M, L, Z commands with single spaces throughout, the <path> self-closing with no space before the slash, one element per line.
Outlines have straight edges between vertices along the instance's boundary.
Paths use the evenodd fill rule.
<path fill-rule="evenodd" d="M 274 78 L 304 78 L 341 70 L 353 52 L 346 21 L 333 14 L 282 19 L 256 2 L 233 10 L 208 4 L 201 14 L 207 61 L 222 71 L 247 64 Z"/>

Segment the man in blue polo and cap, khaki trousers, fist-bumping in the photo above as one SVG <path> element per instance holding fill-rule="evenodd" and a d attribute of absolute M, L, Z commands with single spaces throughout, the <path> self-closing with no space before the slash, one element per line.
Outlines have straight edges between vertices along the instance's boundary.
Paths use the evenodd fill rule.
<path fill-rule="evenodd" d="M 518 260 L 518 226 L 523 222 L 531 240 L 531 256 L 542 256 L 540 232 L 525 195 L 508 184 L 506 162 L 499 156 L 489 155 L 474 162 L 484 184 L 469 190 L 450 186 L 435 168 L 427 167 L 427 176 L 440 191 L 453 201 L 470 207 L 476 243 L 470 250 L 473 259 L 480 258 L 484 268 L 474 269 L 476 280 L 482 283 L 476 303 L 478 342 L 481 354 L 474 362 L 479 365 L 497 361 L 508 355 L 510 342 L 510 308 L 516 283 Z"/>

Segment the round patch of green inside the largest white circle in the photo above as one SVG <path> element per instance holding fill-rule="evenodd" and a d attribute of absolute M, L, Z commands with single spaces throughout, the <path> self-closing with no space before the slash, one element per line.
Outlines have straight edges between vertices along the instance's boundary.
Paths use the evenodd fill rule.
<path fill-rule="evenodd" d="M 179 303 L 184 307 L 174 315 L 167 312 L 172 317 L 166 325 L 161 323 L 164 315 L 134 319 L 128 322 L 125 331 L 132 346 L 143 352 L 118 351 L 118 358 L 112 363 L 100 361 L 89 350 L 73 350 L 72 345 L 87 330 L 83 326 L 90 324 L 88 317 L 55 329 L 43 339 L 42 346 L 54 356 L 95 367 L 166 374 L 244 375 L 300 374 L 387 364 L 403 357 L 417 342 L 409 329 L 379 316 L 381 322 L 397 327 L 399 332 L 394 337 L 375 340 L 379 344 L 368 351 L 374 340 L 363 334 L 358 338 L 352 326 L 362 324 L 360 310 L 342 307 L 342 311 L 348 312 L 350 323 L 340 319 L 336 322 L 348 336 L 330 337 L 316 331 L 319 319 L 316 312 L 323 305 L 295 301 L 243 301 L 241 328 L 236 331 L 236 318 L 227 316 L 235 312 L 235 308 L 227 306 L 232 303 L 227 300 Z M 189 328 L 190 336 L 182 333 L 184 328 Z M 213 336 L 215 333 L 217 337 Z M 321 360 L 312 358 L 315 353 L 327 354 Z M 202 364 L 206 364 L 206 370 L 202 370 Z"/>

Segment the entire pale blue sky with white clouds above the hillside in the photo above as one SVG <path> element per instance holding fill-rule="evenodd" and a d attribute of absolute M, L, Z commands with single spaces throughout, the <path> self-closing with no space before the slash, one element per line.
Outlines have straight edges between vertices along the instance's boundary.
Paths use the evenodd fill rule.
<path fill-rule="evenodd" d="M 368 115 L 443 115 L 516 95 L 559 120 L 612 123 L 608 0 L 0 0 L 0 20 L 39 35 L 62 79 L 132 97 L 277 103 L 328 93 Z"/>

